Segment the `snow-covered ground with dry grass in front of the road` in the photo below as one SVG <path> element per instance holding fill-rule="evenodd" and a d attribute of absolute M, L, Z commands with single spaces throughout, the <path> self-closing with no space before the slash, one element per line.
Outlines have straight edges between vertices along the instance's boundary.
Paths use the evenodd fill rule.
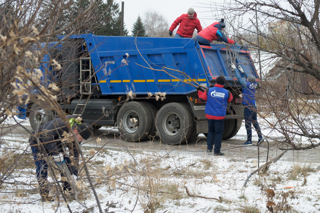
<path fill-rule="evenodd" d="M 10 122 L 14 123 L 12 119 Z M 276 131 L 268 128 L 264 128 L 263 133 L 279 136 Z M 246 135 L 244 127 L 238 135 L 239 140 L 245 140 L 241 136 Z M 69 212 L 61 196 L 60 202 L 39 201 L 30 148 L 27 143 L 12 141 L 14 137 L 19 136 L 1 138 L 0 154 L 10 149 L 16 149 L 15 153 L 27 150 L 23 158 L 25 166 L 18 165 L 9 178 L 4 180 L 5 183 L 0 185 L 0 212 Z M 27 141 L 27 138 L 18 140 Z M 300 140 L 301 143 L 308 144 L 307 138 Z M 290 152 L 271 163 L 267 172 L 254 174 L 243 189 L 248 175 L 257 168 L 257 158 L 179 151 L 133 154 L 111 150 L 96 153 L 92 157 L 92 151 L 84 150 L 86 160 L 92 157 L 88 161 L 88 167 L 96 184 L 95 190 L 102 212 L 152 212 L 152 209 L 159 213 L 270 212 L 267 203 L 274 212 L 320 212 L 320 162 L 310 159 L 293 160 Z M 312 154 L 314 155 L 310 155 L 310 158 L 319 156 L 319 149 L 313 150 Z M 138 172 L 128 173 L 128 166 Z M 0 169 L 0 177 L 3 177 L 4 171 Z M 85 186 L 79 194 L 81 204 L 70 199 L 69 208 L 72 212 L 79 213 L 99 212 L 84 172 L 81 172 L 80 178 Z M 11 182 L 28 185 L 12 185 Z M 185 187 L 188 188 L 189 195 L 206 198 L 190 197 Z M 54 190 L 52 193 L 58 194 Z M 220 201 L 215 200 L 219 197 Z M 84 205 L 90 211 L 84 211 Z"/>

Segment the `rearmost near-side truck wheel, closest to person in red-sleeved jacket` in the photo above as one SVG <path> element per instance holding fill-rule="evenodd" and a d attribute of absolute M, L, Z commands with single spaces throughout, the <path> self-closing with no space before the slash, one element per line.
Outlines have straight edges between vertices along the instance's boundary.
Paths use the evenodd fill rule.
<path fill-rule="evenodd" d="M 156 128 L 164 143 L 186 143 L 193 132 L 192 113 L 182 103 L 167 103 L 157 113 Z"/>

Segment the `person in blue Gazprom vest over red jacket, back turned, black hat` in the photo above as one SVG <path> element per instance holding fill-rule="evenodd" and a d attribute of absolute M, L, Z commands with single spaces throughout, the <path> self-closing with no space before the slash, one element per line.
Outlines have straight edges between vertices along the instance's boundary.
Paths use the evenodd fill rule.
<path fill-rule="evenodd" d="M 219 76 L 216 79 L 216 84 L 203 91 L 198 87 L 198 96 L 205 104 L 205 117 L 208 121 L 208 137 L 207 137 L 207 152 L 212 152 L 214 145 L 214 155 L 224 155 L 220 152 L 224 118 L 227 113 L 227 103 L 231 102 L 233 96 L 229 90 L 223 88 L 226 79 Z"/>

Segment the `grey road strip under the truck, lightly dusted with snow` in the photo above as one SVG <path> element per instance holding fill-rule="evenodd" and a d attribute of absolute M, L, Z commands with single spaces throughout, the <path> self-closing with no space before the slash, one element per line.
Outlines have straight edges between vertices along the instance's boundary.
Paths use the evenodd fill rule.
<path fill-rule="evenodd" d="M 0 140 L 17 141 L 20 143 L 28 143 L 28 137 L 32 132 L 29 125 L 8 125 L 0 124 L 1 138 Z M 99 139 L 98 139 L 99 138 Z M 235 160 L 256 161 L 258 159 L 258 146 L 244 146 L 245 140 L 239 140 L 239 137 L 234 137 L 222 141 L 221 152 L 225 156 L 214 156 L 216 158 L 231 158 Z M 100 140 L 101 139 L 101 140 Z M 141 153 L 151 152 L 154 154 L 183 154 L 183 155 L 204 155 L 213 156 L 213 153 L 206 153 L 206 137 L 198 136 L 195 141 L 191 141 L 181 145 L 167 145 L 156 136 L 154 139 L 140 141 L 140 142 L 126 142 L 123 141 L 118 133 L 118 130 L 101 128 L 94 131 L 94 135 L 87 141 L 82 143 L 82 149 L 107 149 L 121 152 Z M 259 161 L 265 162 L 267 159 L 275 158 L 278 154 L 283 152 L 279 148 L 283 147 L 269 140 L 268 144 L 265 142 L 259 147 Z M 268 153 L 269 150 L 269 153 Z M 293 161 L 297 162 L 320 162 L 320 148 L 306 150 L 306 151 L 288 151 L 285 155 L 292 156 Z M 289 157 L 289 156 L 288 156 Z M 290 158 L 289 158 L 290 159 Z"/>

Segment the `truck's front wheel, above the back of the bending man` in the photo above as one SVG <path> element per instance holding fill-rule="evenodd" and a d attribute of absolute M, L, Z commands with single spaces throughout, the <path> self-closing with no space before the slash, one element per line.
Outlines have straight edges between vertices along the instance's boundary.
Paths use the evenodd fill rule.
<path fill-rule="evenodd" d="M 45 104 L 44 104 L 45 106 Z M 53 119 L 53 112 L 50 109 L 46 109 L 43 106 L 39 106 L 37 103 L 33 103 L 30 108 L 29 121 L 31 128 L 35 130 L 42 124 L 45 124 Z"/>

